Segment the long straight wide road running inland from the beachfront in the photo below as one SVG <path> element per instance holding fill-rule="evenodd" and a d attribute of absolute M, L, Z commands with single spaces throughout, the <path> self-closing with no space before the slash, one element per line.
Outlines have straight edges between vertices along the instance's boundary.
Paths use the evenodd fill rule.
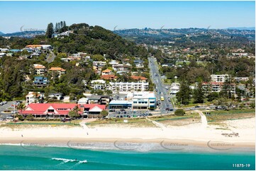
<path fill-rule="evenodd" d="M 167 90 L 164 86 L 164 84 L 162 83 L 162 78 L 159 74 L 159 70 L 158 70 L 158 64 L 155 61 L 154 57 L 149 57 L 148 58 L 149 61 L 149 67 L 150 67 L 150 76 L 152 81 L 155 83 L 157 92 L 156 93 L 156 98 L 160 100 L 160 97 L 163 96 L 164 97 L 164 101 L 161 101 L 161 113 L 166 113 L 167 111 L 165 110 L 167 106 L 169 106 L 170 109 L 174 110 L 174 107 L 172 106 L 172 103 L 169 102 L 168 98 L 170 98 L 169 94 L 167 93 Z"/>

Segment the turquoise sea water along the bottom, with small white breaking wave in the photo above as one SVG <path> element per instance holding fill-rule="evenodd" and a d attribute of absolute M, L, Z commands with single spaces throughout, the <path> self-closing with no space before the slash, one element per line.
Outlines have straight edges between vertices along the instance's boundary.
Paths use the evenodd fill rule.
<path fill-rule="evenodd" d="M 233 164 L 250 164 L 250 167 L 233 167 Z M 0 170 L 255 170 L 255 152 L 140 153 L 57 147 L 28 150 L 1 145 Z"/>

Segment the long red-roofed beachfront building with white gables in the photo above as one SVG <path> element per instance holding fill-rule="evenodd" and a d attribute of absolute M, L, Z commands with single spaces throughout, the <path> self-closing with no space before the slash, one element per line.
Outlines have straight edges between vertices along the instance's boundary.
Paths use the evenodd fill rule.
<path fill-rule="evenodd" d="M 78 105 L 75 103 L 30 103 L 25 110 L 19 110 L 18 112 L 23 116 L 32 114 L 35 118 L 65 118 L 69 117 L 68 114 L 70 111 L 74 110 L 74 107 L 79 107 L 78 113 L 81 117 L 101 117 L 101 111 L 106 110 L 106 105 L 98 104 Z"/>

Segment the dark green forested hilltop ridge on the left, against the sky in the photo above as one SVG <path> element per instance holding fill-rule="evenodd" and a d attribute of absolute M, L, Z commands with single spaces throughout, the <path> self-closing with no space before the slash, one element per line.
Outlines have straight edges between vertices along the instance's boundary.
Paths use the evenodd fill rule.
<path fill-rule="evenodd" d="M 0 38 L 0 45 L 11 45 L 13 49 L 21 49 L 30 44 L 49 44 L 57 52 L 77 53 L 87 52 L 89 54 L 126 54 L 126 56 L 147 57 L 148 52 L 144 47 L 135 45 L 134 42 L 123 39 L 110 30 L 98 25 L 90 26 L 86 23 L 73 24 L 61 28 L 59 33 L 69 31 L 69 36 L 48 38 L 38 35 L 33 38 L 11 37 L 9 40 Z"/>

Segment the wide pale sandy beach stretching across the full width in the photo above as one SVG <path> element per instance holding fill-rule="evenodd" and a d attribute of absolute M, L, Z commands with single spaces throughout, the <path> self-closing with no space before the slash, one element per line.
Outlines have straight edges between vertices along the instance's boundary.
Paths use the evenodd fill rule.
<path fill-rule="evenodd" d="M 85 121 L 86 122 L 86 121 Z M 238 135 L 235 135 L 238 133 Z M 0 128 L 1 144 L 79 144 L 82 143 L 157 143 L 180 146 L 227 146 L 255 148 L 255 118 L 237 119 L 223 124 L 201 123 L 186 126 L 134 128 L 128 126 L 35 126 L 34 128 Z M 222 145 L 221 145 L 222 143 Z M 161 144 L 161 146 L 162 146 Z M 171 144 L 171 145 L 170 145 Z M 165 146 L 164 145 L 164 146 Z M 175 146 L 175 147 L 174 147 Z M 221 146 L 221 147 L 219 147 Z M 226 146 L 226 147 L 224 147 Z"/>

